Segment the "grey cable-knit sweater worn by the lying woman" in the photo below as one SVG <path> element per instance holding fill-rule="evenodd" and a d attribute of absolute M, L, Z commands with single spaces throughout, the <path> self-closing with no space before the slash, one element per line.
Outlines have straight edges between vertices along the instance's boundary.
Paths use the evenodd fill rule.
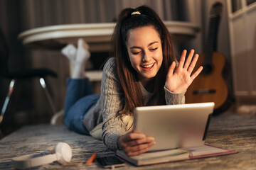
<path fill-rule="evenodd" d="M 141 85 L 144 106 L 156 105 L 156 97 L 149 93 Z M 185 103 L 185 92 L 173 94 L 164 88 L 165 99 L 168 105 Z M 100 99 L 93 106 L 84 118 L 84 125 L 91 131 L 99 123 L 102 125 L 102 140 L 107 148 L 117 150 L 117 139 L 130 130 L 132 123 L 127 123 L 122 118 L 117 118 L 116 114 L 122 108 L 124 93 L 117 77 L 117 67 L 114 58 L 110 58 L 105 64 L 101 82 Z M 130 120 L 132 121 L 132 120 Z M 129 124 L 129 125 L 128 125 Z"/>

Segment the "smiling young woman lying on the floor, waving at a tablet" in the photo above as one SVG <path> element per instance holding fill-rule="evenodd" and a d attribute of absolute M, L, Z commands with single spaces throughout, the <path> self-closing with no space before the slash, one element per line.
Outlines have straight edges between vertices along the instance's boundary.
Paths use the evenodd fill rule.
<path fill-rule="evenodd" d="M 179 62 L 171 34 L 159 16 L 147 6 L 125 8 L 112 35 L 112 58 L 103 69 L 101 94 L 92 94 L 85 77 L 90 57 L 87 45 L 68 45 L 62 51 L 73 64 L 67 82 L 65 126 L 102 139 L 107 148 L 127 155 L 142 154 L 154 145 L 154 137 L 132 130 L 137 106 L 185 103 L 185 92 L 203 67 L 191 74 L 198 60 L 183 50 Z M 186 59 L 186 62 L 185 62 Z"/>

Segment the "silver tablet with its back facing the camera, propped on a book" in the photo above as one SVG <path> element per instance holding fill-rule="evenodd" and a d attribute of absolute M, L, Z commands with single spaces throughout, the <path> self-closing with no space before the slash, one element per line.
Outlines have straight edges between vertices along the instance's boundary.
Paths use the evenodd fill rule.
<path fill-rule="evenodd" d="M 152 136 L 152 150 L 203 146 L 214 103 L 134 108 L 134 130 Z"/>

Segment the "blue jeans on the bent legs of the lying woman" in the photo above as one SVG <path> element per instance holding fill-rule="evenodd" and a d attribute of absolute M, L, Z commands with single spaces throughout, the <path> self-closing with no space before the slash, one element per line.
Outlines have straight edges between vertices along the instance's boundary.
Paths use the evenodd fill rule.
<path fill-rule="evenodd" d="M 83 135 L 90 135 L 83 118 L 99 98 L 100 95 L 93 94 L 89 79 L 68 79 L 64 107 L 65 127 Z"/>

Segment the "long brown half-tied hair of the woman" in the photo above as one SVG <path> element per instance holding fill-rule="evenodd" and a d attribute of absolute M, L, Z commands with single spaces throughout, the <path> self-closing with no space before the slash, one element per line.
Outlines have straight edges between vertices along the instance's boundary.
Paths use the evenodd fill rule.
<path fill-rule="evenodd" d="M 140 14 L 131 15 L 134 11 L 139 11 Z M 131 62 L 129 62 L 126 42 L 129 30 L 144 26 L 153 26 L 161 38 L 163 62 L 155 77 L 154 91 L 158 95 L 157 104 L 166 104 L 164 96 L 166 75 L 171 63 L 176 61 L 176 50 L 174 49 L 171 34 L 161 21 L 161 18 L 148 6 L 124 8 L 119 14 L 117 25 L 112 35 L 112 56 L 116 59 L 118 78 L 124 91 L 124 101 L 122 101 L 124 107 L 117 113 L 117 116 L 132 115 L 135 107 L 143 106 L 138 74 L 132 67 Z"/>

